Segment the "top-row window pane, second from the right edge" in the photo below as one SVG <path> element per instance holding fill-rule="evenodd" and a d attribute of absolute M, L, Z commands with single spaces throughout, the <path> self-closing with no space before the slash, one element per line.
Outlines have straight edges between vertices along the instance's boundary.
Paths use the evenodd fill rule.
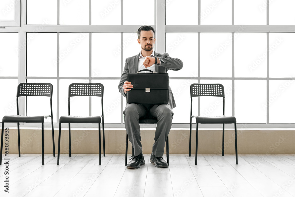
<path fill-rule="evenodd" d="M 266 25 L 266 0 L 235 0 L 235 25 Z"/>

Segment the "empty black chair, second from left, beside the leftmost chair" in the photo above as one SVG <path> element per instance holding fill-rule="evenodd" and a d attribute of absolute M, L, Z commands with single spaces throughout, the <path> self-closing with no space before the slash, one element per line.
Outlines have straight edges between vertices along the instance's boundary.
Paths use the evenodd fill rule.
<path fill-rule="evenodd" d="M 89 116 L 89 117 L 79 117 L 70 115 L 70 97 L 76 96 L 96 96 L 101 97 L 101 116 Z M 99 137 L 99 165 L 101 165 L 101 143 L 100 143 L 100 123 L 102 118 L 102 138 L 104 146 L 104 86 L 101 83 L 72 83 L 69 86 L 68 92 L 68 116 L 60 116 L 59 118 L 59 131 L 58 131 L 58 156 L 57 156 L 57 165 L 59 165 L 59 153 L 60 153 L 60 133 L 61 133 L 61 124 L 69 124 L 69 155 L 71 157 L 71 123 L 98 123 L 98 137 Z M 105 156 L 105 146 L 104 156 Z"/>

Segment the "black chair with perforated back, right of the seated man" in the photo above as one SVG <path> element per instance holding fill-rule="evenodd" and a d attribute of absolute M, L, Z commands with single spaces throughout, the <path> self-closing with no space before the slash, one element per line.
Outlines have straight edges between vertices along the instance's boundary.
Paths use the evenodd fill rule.
<path fill-rule="evenodd" d="M 222 84 L 191 84 L 191 119 L 196 118 L 197 128 L 196 128 L 196 161 L 198 156 L 198 133 L 199 133 L 199 123 L 222 123 L 222 156 L 224 156 L 224 123 L 234 123 L 235 124 L 235 151 L 236 151 L 236 164 L 238 164 L 237 155 L 237 121 L 235 116 L 225 116 L 224 115 L 224 87 Z M 202 117 L 192 115 L 193 97 L 223 97 L 223 115 L 216 117 Z M 189 157 L 191 156 L 191 121 L 189 127 Z"/>

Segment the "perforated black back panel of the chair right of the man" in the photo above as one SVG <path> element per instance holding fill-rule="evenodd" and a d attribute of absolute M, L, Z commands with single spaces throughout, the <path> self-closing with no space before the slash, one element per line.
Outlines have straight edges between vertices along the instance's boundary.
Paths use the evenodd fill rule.
<path fill-rule="evenodd" d="M 192 97 L 224 97 L 224 87 L 222 84 L 191 84 Z"/>

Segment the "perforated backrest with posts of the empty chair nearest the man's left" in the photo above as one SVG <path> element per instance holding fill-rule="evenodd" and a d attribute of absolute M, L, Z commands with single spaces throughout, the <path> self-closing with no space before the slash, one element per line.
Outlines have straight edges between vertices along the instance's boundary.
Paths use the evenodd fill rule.
<path fill-rule="evenodd" d="M 69 85 L 68 110 L 70 115 L 70 97 L 95 96 L 101 97 L 102 121 L 104 123 L 104 85 L 101 83 L 72 83 Z"/>

